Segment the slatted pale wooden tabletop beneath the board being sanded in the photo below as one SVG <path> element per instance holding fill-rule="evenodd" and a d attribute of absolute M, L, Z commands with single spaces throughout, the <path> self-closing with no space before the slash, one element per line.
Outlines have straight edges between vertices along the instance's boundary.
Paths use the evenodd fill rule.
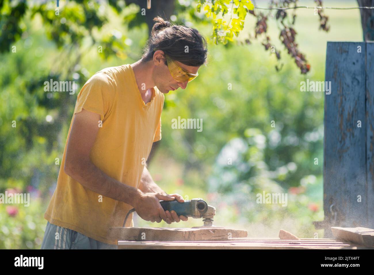
<path fill-rule="evenodd" d="M 118 241 L 118 249 L 367 249 L 333 239 L 233 238 L 227 241 Z"/>

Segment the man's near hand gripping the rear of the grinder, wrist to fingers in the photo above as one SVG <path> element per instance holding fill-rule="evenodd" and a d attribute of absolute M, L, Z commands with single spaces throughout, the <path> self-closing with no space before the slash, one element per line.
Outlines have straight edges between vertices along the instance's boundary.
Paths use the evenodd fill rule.
<path fill-rule="evenodd" d="M 143 220 L 158 223 L 164 220 L 168 224 L 171 224 L 171 220 L 166 216 L 165 210 L 163 210 L 160 204 L 160 200 L 174 201 L 174 199 L 174 197 L 160 193 L 141 192 L 134 202 L 134 208 Z"/>

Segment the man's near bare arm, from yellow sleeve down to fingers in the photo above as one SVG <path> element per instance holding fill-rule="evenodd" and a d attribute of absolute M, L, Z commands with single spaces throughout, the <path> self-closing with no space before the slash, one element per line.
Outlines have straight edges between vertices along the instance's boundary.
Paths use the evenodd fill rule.
<path fill-rule="evenodd" d="M 98 194 L 131 205 L 144 220 L 160 222 L 163 219 L 171 223 L 160 205 L 160 200 L 174 200 L 174 197 L 144 193 L 113 179 L 91 162 L 89 155 L 99 131 L 99 120 L 99 114 L 85 109 L 75 115 L 67 145 L 64 172 Z"/>

